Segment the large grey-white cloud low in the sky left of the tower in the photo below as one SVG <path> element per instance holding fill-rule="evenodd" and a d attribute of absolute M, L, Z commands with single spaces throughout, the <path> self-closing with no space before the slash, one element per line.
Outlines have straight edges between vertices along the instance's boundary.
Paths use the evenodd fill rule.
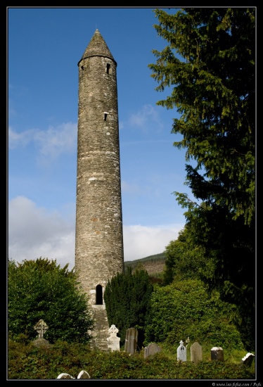
<path fill-rule="evenodd" d="M 18 196 L 8 209 L 8 257 L 21 262 L 39 257 L 61 266 L 75 262 L 75 224 Z"/>

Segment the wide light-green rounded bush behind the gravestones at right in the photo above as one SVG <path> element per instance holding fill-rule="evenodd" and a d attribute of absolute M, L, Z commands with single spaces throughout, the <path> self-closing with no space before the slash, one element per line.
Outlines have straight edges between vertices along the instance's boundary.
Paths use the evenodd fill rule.
<path fill-rule="evenodd" d="M 207 294 L 202 281 L 189 279 L 155 288 L 150 298 L 146 343 L 179 345 L 189 337 L 191 343 L 243 349 L 240 334 L 233 324 L 236 307 Z"/>

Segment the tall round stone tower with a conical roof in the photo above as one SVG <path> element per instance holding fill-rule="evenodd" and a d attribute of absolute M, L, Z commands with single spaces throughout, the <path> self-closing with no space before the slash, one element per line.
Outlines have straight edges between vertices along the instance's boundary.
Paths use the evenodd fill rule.
<path fill-rule="evenodd" d="M 91 305 L 103 310 L 105 285 L 123 272 L 124 255 L 117 63 L 98 30 L 78 67 L 75 269 Z"/>

